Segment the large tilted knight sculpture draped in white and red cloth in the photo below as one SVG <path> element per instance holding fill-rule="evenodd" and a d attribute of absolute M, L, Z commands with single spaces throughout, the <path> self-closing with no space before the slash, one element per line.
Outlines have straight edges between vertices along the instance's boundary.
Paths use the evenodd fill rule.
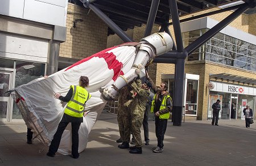
<path fill-rule="evenodd" d="M 13 98 L 27 126 L 32 128 L 37 134 L 36 137 L 47 145 L 57 130 L 67 104 L 54 98 L 53 94 L 60 93 L 65 96 L 70 85 L 78 85 L 80 76 L 87 76 L 89 87 L 86 89 L 92 94 L 92 98 L 86 102 L 84 122 L 79 129 L 79 152 L 81 152 L 86 148 L 88 134 L 104 109 L 106 99 L 117 98 L 118 89 L 135 77 L 143 77 L 144 67 L 150 64 L 155 56 L 170 51 L 172 45 L 171 37 L 161 32 L 143 38 L 140 43 L 125 43 L 108 48 L 46 79 L 39 78 L 15 88 Z M 70 154 L 71 144 L 69 124 L 62 135 L 58 152 L 64 155 Z"/>

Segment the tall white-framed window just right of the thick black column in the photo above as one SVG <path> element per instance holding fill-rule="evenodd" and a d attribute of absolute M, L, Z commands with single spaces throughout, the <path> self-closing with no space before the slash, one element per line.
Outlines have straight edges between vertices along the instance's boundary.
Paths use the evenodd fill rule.
<path fill-rule="evenodd" d="M 185 114 L 196 115 L 197 87 L 198 87 L 198 80 L 187 80 L 187 97 L 186 97 Z"/>

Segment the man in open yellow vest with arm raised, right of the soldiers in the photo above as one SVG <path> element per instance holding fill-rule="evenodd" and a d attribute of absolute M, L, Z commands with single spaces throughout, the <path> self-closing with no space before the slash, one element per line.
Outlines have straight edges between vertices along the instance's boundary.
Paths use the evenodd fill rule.
<path fill-rule="evenodd" d="M 159 153 L 163 152 L 163 140 L 164 134 L 166 133 L 167 120 L 170 118 L 170 112 L 172 110 L 172 98 L 170 93 L 167 92 L 168 84 L 166 82 L 162 82 L 158 90 L 147 72 L 146 77 L 151 82 L 152 90 L 155 92 L 150 111 L 155 114 L 155 135 L 158 139 L 158 146 L 152 148 L 152 151 Z"/>

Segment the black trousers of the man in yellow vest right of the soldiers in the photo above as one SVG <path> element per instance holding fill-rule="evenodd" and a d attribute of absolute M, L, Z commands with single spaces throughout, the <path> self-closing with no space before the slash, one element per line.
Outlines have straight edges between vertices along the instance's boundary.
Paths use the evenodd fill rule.
<path fill-rule="evenodd" d="M 158 147 L 163 148 L 164 134 L 166 133 L 167 119 L 155 117 L 155 135 L 158 138 Z"/>

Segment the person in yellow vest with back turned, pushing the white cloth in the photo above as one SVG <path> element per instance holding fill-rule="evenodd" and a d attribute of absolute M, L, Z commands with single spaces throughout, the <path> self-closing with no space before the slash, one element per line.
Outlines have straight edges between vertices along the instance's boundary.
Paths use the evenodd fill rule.
<path fill-rule="evenodd" d="M 85 89 L 89 85 L 88 77 L 81 76 L 79 85 L 71 85 L 67 96 L 63 97 L 59 93 L 55 93 L 55 97 L 61 101 L 68 102 L 64 110 L 63 118 L 61 119 L 55 135 L 53 136 L 47 156 L 54 157 L 57 152 L 61 136 L 67 127 L 68 123 L 72 125 L 72 157 L 79 157 L 79 127 L 83 121 L 84 105 L 90 99 L 90 93 Z"/>

